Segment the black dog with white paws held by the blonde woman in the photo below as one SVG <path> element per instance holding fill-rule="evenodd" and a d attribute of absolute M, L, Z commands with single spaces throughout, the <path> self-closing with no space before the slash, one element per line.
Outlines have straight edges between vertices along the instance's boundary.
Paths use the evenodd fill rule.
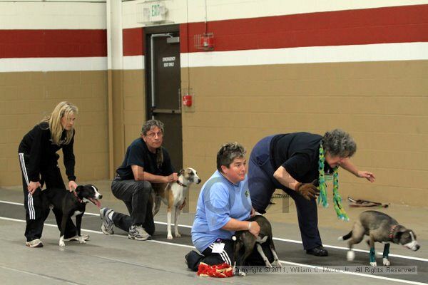
<path fill-rule="evenodd" d="M 82 216 L 86 209 L 86 203 L 88 202 L 92 202 L 98 208 L 101 207 L 101 203 L 98 199 L 101 199 L 103 195 L 98 192 L 98 189 L 93 185 L 79 185 L 74 192 L 52 188 L 43 190 L 41 193 L 46 211 L 49 211 L 49 207 L 53 206 L 57 209 L 61 209 L 63 213 L 59 246 L 66 246 L 63 240 L 66 232 L 66 223 L 68 217 L 73 216 L 76 216 L 78 242 L 81 244 L 86 243 L 83 237 L 81 237 Z"/>

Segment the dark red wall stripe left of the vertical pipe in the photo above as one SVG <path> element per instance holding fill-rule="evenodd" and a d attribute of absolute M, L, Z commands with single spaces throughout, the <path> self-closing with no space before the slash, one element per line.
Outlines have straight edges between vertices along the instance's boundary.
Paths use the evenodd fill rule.
<path fill-rule="evenodd" d="M 0 30 L 0 58 L 107 56 L 106 30 Z"/>

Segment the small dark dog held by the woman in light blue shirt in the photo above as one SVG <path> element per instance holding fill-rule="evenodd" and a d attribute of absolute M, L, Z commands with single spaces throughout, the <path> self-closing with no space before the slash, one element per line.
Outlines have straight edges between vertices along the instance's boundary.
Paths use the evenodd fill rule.
<path fill-rule="evenodd" d="M 254 217 L 248 219 L 248 222 L 257 222 L 260 226 L 260 233 L 256 238 L 254 234 L 251 234 L 249 231 L 238 231 L 235 232 L 235 235 L 232 237 L 233 241 L 235 241 L 235 262 L 237 266 L 241 266 L 245 264 L 245 260 L 250 254 L 253 252 L 254 247 L 257 247 L 257 250 L 260 256 L 265 261 L 267 267 L 272 267 L 269 260 L 267 259 L 265 253 L 263 252 L 263 248 L 261 244 L 268 242 L 270 250 L 272 252 L 274 262 L 276 262 L 277 266 L 281 267 L 280 261 L 278 259 L 277 253 L 275 251 L 275 245 L 272 240 L 272 226 L 270 222 L 263 217 L 261 214 L 256 214 Z M 243 250 L 243 254 L 242 250 Z M 240 272 L 241 276 L 245 276 L 243 272 Z"/>

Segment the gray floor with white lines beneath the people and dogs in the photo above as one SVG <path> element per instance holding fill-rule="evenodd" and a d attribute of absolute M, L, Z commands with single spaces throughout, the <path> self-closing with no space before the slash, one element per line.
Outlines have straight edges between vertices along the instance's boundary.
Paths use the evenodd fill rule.
<path fill-rule="evenodd" d="M 124 205 L 112 197 L 108 182 L 93 182 L 104 195 L 103 206 L 125 211 Z M 296 224 L 295 209 L 284 210 L 280 204 L 273 205 L 267 214 L 272 222 L 277 254 L 285 269 L 270 274 L 250 274 L 231 279 L 199 277 L 189 271 L 184 255 L 193 249 L 190 241 L 190 225 L 193 221 L 198 189 L 189 197 L 189 207 L 180 215 L 181 238 L 166 239 L 165 208 L 156 216 L 156 234 L 152 241 L 137 242 L 116 230 L 113 236 L 101 233 L 101 220 L 95 206 L 88 205 L 83 218 L 83 229 L 91 235 L 86 244 L 66 243 L 58 247 L 58 229 L 53 216 L 49 216 L 44 227 L 44 247 L 30 249 L 24 246 L 24 207 L 19 187 L 0 189 L 0 280 L 1 284 L 428 284 L 428 229 L 424 222 L 428 209 L 391 205 L 387 211 L 418 234 L 422 248 L 411 252 L 398 245 L 391 246 L 392 266 L 416 266 L 417 274 L 371 274 L 365 272 L 368 264 L 367 246 L 357 246 L 355 261 L 346 261 L 345 242 L 337 237 L 347 233 L 352 224 L 337 221 L 333 209 L 320 209 L 320 232 L 329 257 L 312 257 L 302 250 L 300 234 Z M 275 201 L 275 200 L 274 200 Z M 364 209 L 348 209 L 355 217 Z M 385 211 L 385 212 L 387 212 Z M 399 218 L 397 218 L 399 217 Z M 382 244 L 377 244 L 382 251 Z M 382 264 L 382 258 L 377 258 Z M 320 273 L 336 266 L 358 266 L 360 274 Z M 350 267 L 355 270 L 356 267 Z M 381 267 L 379 267 L 381 268 Z M 291 270 L 297 271 L 292 273 Z M 286 272 L 287 271 L 287 272 Z M 306 272 L 303 272 L 306 271 Z M 310 271 L 310 272 L 307 272 Z"/>

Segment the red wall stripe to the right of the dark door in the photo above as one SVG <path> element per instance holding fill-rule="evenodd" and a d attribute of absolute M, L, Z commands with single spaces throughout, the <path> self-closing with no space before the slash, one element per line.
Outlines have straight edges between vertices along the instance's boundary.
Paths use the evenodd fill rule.
<path fill-rule="evenodd" d="M 210 21 L 214 51 L 428 41 L 428 5 Z M 181 52 L 200 51 L 205 23 L 180 26 Z"/>

